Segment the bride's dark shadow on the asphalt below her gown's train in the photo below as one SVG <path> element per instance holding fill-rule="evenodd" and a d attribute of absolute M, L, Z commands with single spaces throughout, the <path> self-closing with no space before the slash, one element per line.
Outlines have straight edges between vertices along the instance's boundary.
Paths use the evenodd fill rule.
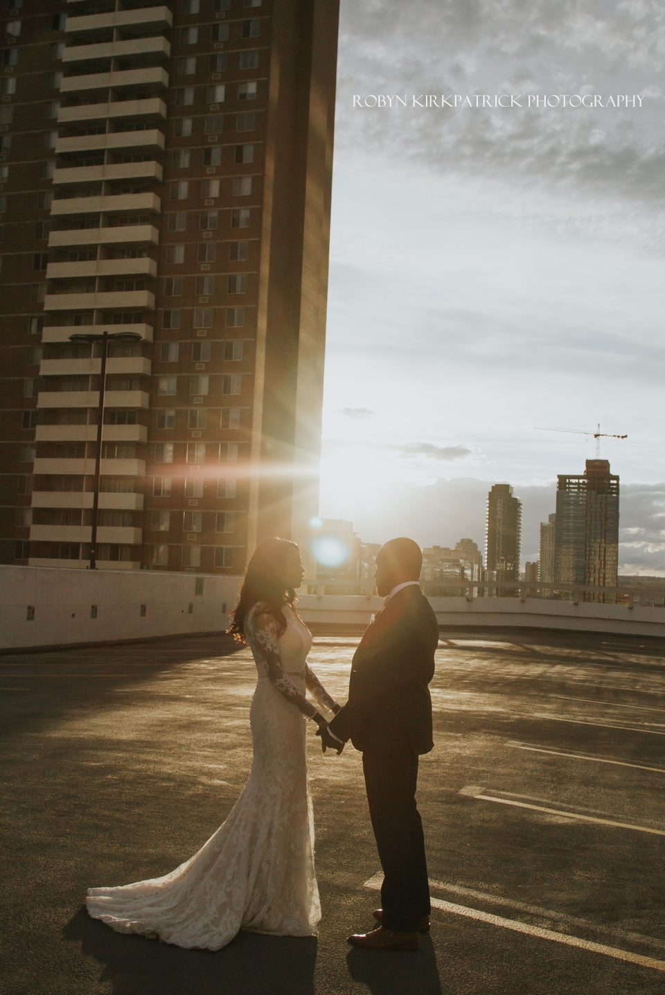
<path fill-rule="evenodd" d="M 315 937 L 241 932 L 223 950 L 183 950 L 113 932 L 84 907 L 64 933 L 104 965 L 112 995 L 314 995 Z"/>

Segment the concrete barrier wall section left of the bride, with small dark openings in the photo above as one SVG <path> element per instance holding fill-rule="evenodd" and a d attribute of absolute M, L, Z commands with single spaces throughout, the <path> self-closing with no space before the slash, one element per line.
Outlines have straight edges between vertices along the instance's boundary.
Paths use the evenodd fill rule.
<path fill-rule="evenodd" d="M 0 565 L 0 650 L 222 632 L 240 580 L 158 570 Z"/>

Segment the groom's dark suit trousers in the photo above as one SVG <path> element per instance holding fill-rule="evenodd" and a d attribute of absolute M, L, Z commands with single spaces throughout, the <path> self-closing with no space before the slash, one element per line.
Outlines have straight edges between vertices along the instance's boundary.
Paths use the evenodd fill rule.
<path fill-rule="evenodd" d="M 416 807 L 417 754 L 365 751 L 363 772 L 370 818 L 384 872 L 383 925 L 416 932 L 429 915 L 422 822 Z"/>

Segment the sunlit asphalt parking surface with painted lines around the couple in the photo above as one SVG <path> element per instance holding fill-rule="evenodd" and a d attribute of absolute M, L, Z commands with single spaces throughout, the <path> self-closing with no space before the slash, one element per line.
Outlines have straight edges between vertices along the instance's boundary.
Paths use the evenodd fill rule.
<path fill-rule="evenodd" d="M 342 701 L 356 644 L 309 658 Z M 417 953 L 345 942 L 379 864 L 360 754 L 311 729 L 318 940 L 210 953 L 89 919 L 87 887 L 173 870 L 231 810 L 254 674 L 217 637 L 0 658 L 3 995 L 662 995 L 665 647 L 645 638 L 441 634 Z"/>

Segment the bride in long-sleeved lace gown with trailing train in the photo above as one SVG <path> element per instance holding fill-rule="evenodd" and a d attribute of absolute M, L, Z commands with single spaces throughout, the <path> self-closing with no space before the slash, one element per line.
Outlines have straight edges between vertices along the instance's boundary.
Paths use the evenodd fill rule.
<path fill-rule="evenodd" d="M 118 932 L 219 950 L 240 929 L 312 936 L 321 918 L 314 823 L 307 786 L 305 717 L 339 705 L 306 663 L 312 637 L 293 608 L 304 569 L 286 539 L 261 542 L 249 560 L 230 632 L 249 644 L 258 671 L 249 722 L 249 781 L 227 820 L 190 860 L 163 878 L 90 888 L 88 913 Z M 325 748 L 325 746 L 324 746 Z M 341 749 L 338 750 L 341 752 Z"/>

